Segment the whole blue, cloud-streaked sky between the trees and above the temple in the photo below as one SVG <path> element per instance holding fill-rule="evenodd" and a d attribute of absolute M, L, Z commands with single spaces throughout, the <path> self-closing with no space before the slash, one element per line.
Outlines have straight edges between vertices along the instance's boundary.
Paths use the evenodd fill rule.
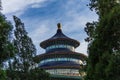
<path fill-rule="evenodd" d="M 2 0 L 2 12 L 12 23 L 13 15 L 24 22 L 37 54 L 45 52 L 39 44 L 56 33 L 57 23 L 62 24 L 65 35 L 80 41 L 76 51 L 87 54 L 85 24 L 98 18 L 89 10 L 88 3 L 89 0 Z"/>

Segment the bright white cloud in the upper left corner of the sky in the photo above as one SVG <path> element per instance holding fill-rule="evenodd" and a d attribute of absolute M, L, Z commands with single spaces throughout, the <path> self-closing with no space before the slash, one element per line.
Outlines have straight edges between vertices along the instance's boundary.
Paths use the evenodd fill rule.
<path fill-rule="evenodd" d="M 9 2 L 8 2 L 9 1 Z M 41 5 L 46 0 L 2 0 L 3 13 L 21 12 L 28 7 L 38 4 Z"/>

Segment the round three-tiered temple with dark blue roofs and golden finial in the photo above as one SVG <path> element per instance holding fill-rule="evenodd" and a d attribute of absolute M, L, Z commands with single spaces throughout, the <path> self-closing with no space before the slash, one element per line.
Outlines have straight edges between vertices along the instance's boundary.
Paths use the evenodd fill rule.
<path fill-rule="evenodd" d="M 79 70 L 85 65 L 86 55 L 75 52 L 80 43 L 64 35 L 60 23 L 57 26 L 56 34 L 40 43 L 46 52 L 37 56 L 38 67 L 50 73 L 51 80 L 80 80 Z"/>

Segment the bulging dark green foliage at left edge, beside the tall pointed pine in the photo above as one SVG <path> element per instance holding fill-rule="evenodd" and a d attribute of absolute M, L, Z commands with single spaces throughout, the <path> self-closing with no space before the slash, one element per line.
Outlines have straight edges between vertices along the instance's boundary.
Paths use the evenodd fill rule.
<path fill-rule="evenodd" d="M 14 46 L 10 42 L 12 25 L 0 13 L 0 65 L 14 55 Z"/>

